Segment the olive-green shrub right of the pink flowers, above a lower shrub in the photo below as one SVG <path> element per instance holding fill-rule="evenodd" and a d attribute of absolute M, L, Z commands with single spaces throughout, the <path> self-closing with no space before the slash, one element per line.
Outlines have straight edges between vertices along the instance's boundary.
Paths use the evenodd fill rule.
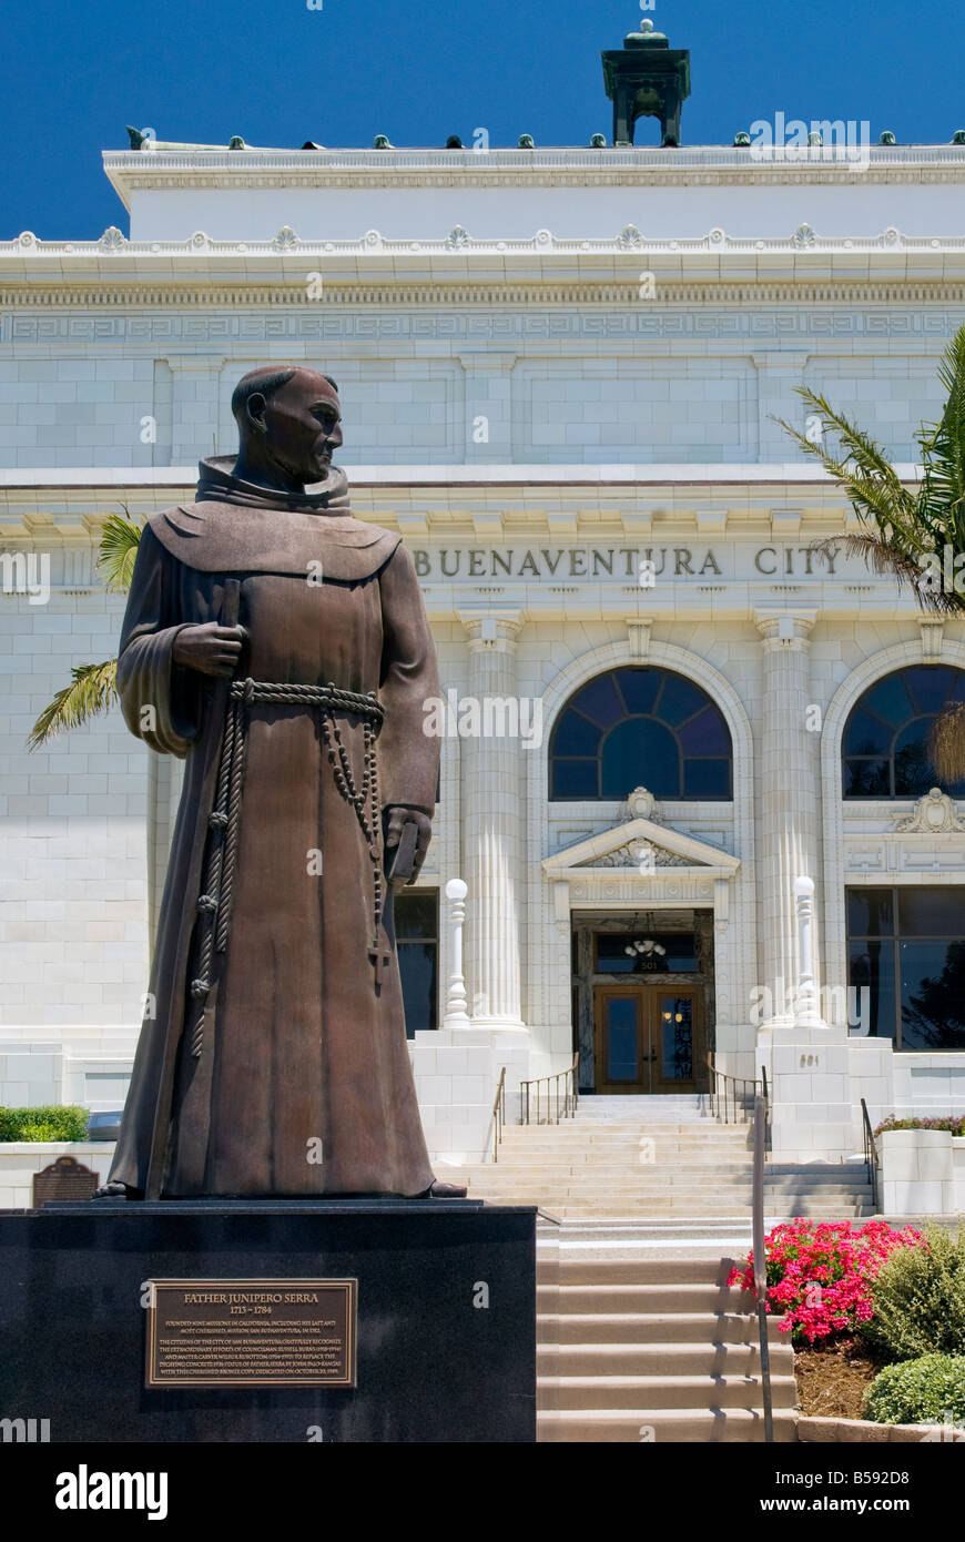
<path fill-rule="evenodd" d="M 862 1335 L 891 1360 L 965 1355 L 965 1226 L 925 1229 L 922 1247 L 896 1247 L 871 1284 Z"/>

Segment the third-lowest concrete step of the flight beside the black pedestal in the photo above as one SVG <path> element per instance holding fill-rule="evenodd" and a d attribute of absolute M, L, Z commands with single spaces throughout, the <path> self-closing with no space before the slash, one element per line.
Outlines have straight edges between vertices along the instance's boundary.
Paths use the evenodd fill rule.
<path fill-rule="evenodd" d="M 709 1377 L 758 1375 L 760 1345 L 752 1343 L 540 1343 L 536 1348 L 540 1375 L 651 1375 Z M 791 1345 L 771 1348 L 771 1374 L 794 1375 Z"/>

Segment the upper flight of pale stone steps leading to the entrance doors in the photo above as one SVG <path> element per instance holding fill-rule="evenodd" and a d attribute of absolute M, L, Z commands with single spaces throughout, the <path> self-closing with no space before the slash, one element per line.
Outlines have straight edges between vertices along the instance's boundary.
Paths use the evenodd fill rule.
<path fill-rule="evenodd" d="M 561 1124 L 507 1124 L 498 1161 L 459 1173 L 472 1198 L 560 1220 L 749 1217 L 751 1158 L 751 1126 L 718 1124 L 701 1095 L 584 1098 Z M 871 1214 L 866 1169 L 768 1163 L 765 1214 Z"/>

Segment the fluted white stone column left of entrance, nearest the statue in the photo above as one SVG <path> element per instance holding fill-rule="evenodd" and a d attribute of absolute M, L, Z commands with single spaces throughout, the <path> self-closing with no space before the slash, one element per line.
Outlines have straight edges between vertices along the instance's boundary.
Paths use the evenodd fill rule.
<path fill-rule="evenodd" d="M 519 712 L 516 637 L 521 611 L 462 612 L 469 634 L 469 692 L 459 703 L 462 862 L 472 894 L 467 975 L 478 1029 L 524 1030 L 523 951 L 523 749 L 512 729 Z M 487 711 L 486 703 L 490 703 Z M 476 723 L 470 717 L 476 712 Z M 518 715 L 516 715 L 518 720 Z M 499 731 L 503 728 L 503 732 Z"/>

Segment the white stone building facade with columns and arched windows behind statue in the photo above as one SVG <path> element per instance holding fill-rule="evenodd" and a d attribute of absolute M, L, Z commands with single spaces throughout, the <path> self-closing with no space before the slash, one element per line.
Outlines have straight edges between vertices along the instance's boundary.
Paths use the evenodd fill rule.
<path fill-rule="evenodd" d="M 512 1116 L 577 1050 L 586 1092 L 703 1090 L 708 1053 L 763 1067 L 802 1158 L 856 1149 L 860 1098 L 960 1112 L 965 788 L 930 797 L 916 746 L 965 682 L 965 623 L 812 550 L 857 526 L 775 418 L 803 429 L 811 386 L 913 480 L 965 322 L 965 146 L 105 167 L 129 239 L 0 244 L 0 1103 L 119 1107 L 143 1012 L 179 768 L 117 712 L 26 749 L 71 666 L 116 649 L 103 518 L 190 500 L 197 458 L 234 447 L 237 378 L 307 361 L 339 382 L 355 512 L 415 557 L 450 692 L 405 944 L 433 1152 L 478 1160 L 499 1069 Z M 446 1024 L 453 877 L 469 1027 Z"/>

